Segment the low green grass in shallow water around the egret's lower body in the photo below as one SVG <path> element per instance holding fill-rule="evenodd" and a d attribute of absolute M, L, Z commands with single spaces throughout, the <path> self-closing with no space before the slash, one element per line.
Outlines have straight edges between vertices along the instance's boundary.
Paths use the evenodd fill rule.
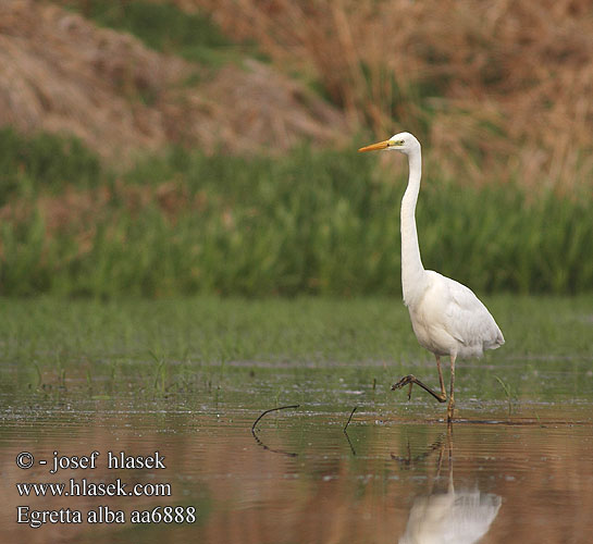
<path fill-rule="evenodd" d="M 593 398 L 591 296 L 485 302 L 507 343 L 481 361 L 459 361 L 465 400 L 508 404 L 509 392 L 515 406 Z M 368 403 L 393 395 L 388 386 L 410 371 L 436 380 L 434 358 L 417 344 L 398 299 L 42 297 L 0 306 L 0 362 L 11 373 L 0 380 L 0 394 L 196 395 L 196 401 L 232 394 L 252 403 L 256 387 L 268 404 L 281 404 L 312 403 L 320 391 L 317 401 L 355 403 L 345 392 L 360 390 Z"/>

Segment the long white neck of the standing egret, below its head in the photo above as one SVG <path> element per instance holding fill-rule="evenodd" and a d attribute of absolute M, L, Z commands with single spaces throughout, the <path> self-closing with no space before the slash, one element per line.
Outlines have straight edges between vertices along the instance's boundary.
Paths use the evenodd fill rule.
<path fill-rule="evenodd" d="M 420 146 L 408 154 L 408 187 L 401 199 L 401 290 L 406 306 L 413 305 L 422 294 L 424 284 L 424 267 L 420 258 L 418 232 L 416 230 L 416 202 L 420 191 L 422 176 L 422 157 Z"/>

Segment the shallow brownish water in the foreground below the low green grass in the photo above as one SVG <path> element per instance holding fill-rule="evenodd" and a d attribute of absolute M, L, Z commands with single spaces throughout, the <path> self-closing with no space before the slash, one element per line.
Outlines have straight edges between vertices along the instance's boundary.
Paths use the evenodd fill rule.
<path fill-rule="evenodd" d="M 203 387 L 174 394 L 138 394 L 132 372 L 127 387 L 110 395 L 87 391 L 82 376 L 14 387 L 18 369 L 4 368 L 0 541 L 593 542 L 589 361 L 569 370 L 544 364 L 538 375 L 539 382 L 545 375 L 543 393 L 510 404 L 501 396 L 481 399 L 472 376 L 484 370 L 461 367 L 452 428 L 442 420 L 444 407 L 420 393 L 407 401 L 386 384 L 336 380 L 337 366 L 243 367 L 231 364 L 218 385 L 209 371 L 199 378 Z M 512 374 L 512 361 L 501 367 L 498 372 Z M 527 376 L 518 383 L 532 378 L 524 361 L 517 373 Z M 300 406 L 267 413 L 251 429 L 263 410 L 289 404 Z M 49 473 L 53 452 L 61 457 L 94 450 L 95 468 Z M 35 457 L 32 468 L 16 466 L 22 452 Z M 159 452 L 165 468 L 108 469 L 108 452 Z M 136 483 L 151 484 L 149 492 L 166 483 L 171 495 L 24 497 L 16 487 L 67 486 L 71 479 L 120 479 L 126 493 Z M 29 507 L 28 518 L 22 517 L 28 522 L 16 522 L 18 506 Z M 181 508 L 170 512 L 171 520 L 163 518 L 166 506 Z M 104 507 L 111 522 L 88 522 L 90 510 L 104 515 Z M 78 510 L 83 522 L 30 527 L 32 510 L 65 508 Z M 152 522 L 133 522 L 134 510 L 147 511 Z M 118 511 L 124 522 L 115 521 Z M 175 514 L 183 522 L 175 522 Z"/>

